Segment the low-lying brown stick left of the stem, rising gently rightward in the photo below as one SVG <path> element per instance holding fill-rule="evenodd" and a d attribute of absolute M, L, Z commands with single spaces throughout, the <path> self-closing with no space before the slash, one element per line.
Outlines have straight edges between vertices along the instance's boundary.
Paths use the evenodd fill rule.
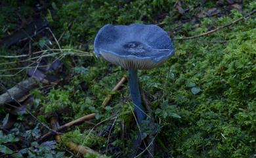
<path fill-rule="evenodd" d="M 69 122 L 69 123 L 66 123 L 65 125 L 62 125 L 62 126 L 58 127 L 58 129 L 57 129 L 56 131 L 60 132 L 60 131 L 62 131 L 62 130 L 65 130 L 65 129 L 68 128 L 68 127 L 72 127 L 72 126 L 74 126 L 74 125 L 79 125 L 79 124 L 81 124 L 81 123 L 83 123 L 83 122 L 85 122 L 85 121 L 88 121 L 88 120 L 94 119 L 94 118 L 95 118 L 95 113 L 91 113 L 91 114 L 89 114 L 89 115 L 85 115 L 85 116 L 83 116 L 83 117 L 80 117 L 79 119 L 76 119 L 76 120 L 74 120 L 74 121 L 71 121 L 71 122 Z M 39 142 L 43 142 L 43 140 L 49 138 L 50 136 L 52 136 L 52 135 L 54 135 L 54 134 L 55 134 L 55 133 L 52 132 L 52 131 L 47 132 L 47 134 L 43 135 L 43 136 L 40 138 Z"/>

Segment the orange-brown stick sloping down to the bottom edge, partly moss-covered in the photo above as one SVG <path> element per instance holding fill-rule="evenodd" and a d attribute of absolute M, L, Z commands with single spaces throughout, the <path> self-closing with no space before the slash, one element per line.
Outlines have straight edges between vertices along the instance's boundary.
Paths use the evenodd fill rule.
<path fill-rule="evenodd" d="M 60 128 L 59 123 L 56 119 L 56 117 L 51 117 L 51 126 L 54 130 L 58 130 L 58 128 Z M 57 142 L 61 142 L 62 141 L 62 136 L 61 135 L 55 135 L 55 139 Z M 88 148 L 86 146 L 80 146 L 75 144 L 74 142 L 64 142 L 65 146 L 67 146 L 70 150 L 75 151 L 77 153 L 80 153 L 81 155 L 85 155 L 87 153 L 95 153 L 96 155 L 100 155 L 98 152 L 94 151 L 91 148 Z M 102 155 L 100 155 L 99 157 L 102 157 Z"/>

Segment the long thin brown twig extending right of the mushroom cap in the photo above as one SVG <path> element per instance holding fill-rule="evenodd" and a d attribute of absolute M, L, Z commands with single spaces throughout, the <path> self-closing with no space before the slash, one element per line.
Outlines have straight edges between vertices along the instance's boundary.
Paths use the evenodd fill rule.
<path fill-rule="evenodd" d="M 209 35 L 209 34 L 215 32 L 215 31 L 219 31 L 219 30 L 221 30 L 221 29 L 223 29 L 223 28 L 226 28 L 226 27 L 228 27 L 228 26 L 231 26 L 232 24 L 235 24 L 235 23 L 237 23 L 237 22 L 240 22 L 241 20 L 245 20 L 245 19 L 248 18 L 249 16 L 252 16 L 255 12 L 256 12 L 256 10 L 253 10 L 252 12 L 249 12 L 249 14 L 245 15 L 244 17 L 238 18 L 237 20 L 234 20 L 234 21 L 232 21 L 232 22 L 230 22 L 230 23 L 228 23 L 228 24 L 225 24 L 224 26 L 220 26 L 219 28 L 216 28 L 216 29 L 214 29 L 214 30 L 207 31 L 207 32 L 201 33 L 201 34 L 199 34 L 199 35 L 194 35 L 194 36 L 192 36 L 192 37 L 182 37 L 182 38 L 179 38 L 179 39 L 174 38 L 173 40 L 194 39 L 194 38 L 197 38 L 197 37 L 202 37 L 202 36 L 204 36 L 204 35 Z"/>

